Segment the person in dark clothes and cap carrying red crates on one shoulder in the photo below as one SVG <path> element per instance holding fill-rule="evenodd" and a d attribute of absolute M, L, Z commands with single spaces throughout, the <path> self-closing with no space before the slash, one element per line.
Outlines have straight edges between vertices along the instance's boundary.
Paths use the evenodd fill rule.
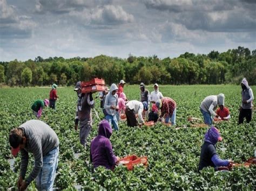
<path fill-rule="evenodd" d="M 91 108 L 94 107 L 94 100 L 92 93 L 82 93 L 81 82 L 77 82 L 74 91 L 77 92 L 77 109 L 75 118 L 75 130 L 77 131 L 79 121 L 79 140 L 80 144 L 86 148 L 87 137 L 92 128 L 92 112 Z"/>

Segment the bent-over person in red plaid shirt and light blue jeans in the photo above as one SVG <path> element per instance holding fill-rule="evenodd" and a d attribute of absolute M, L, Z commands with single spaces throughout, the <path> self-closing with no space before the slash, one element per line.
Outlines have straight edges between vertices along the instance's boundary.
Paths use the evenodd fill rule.
<path fill-rule="evenodd" d="M 165 123 L 169 123 L 171 118 L 172 125 L 176 125 L 176 102 L 172 98 L 163 97 L 156 102 L 156 106 L 161 111 L 158 121 L 165 118 Z"/>

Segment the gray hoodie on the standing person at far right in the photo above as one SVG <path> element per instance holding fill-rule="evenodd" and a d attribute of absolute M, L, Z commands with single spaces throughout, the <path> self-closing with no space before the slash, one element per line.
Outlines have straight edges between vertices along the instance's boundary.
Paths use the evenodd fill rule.
<path fill-rule="evenodd" d="M 254 100 L 252 89 L 250 88 L 246 78 L 242 79 L 242 84 L 245 85 L 246 89 L 242 90 L 242 101 L 247 101 L 247 103 L 242 103 L 242 109 L 251 109 L 252 101 Z"/>

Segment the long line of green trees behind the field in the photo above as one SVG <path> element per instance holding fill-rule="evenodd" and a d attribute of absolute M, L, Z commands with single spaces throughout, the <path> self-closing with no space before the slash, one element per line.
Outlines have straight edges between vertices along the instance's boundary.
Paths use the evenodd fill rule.
<path fill-rule="evenodd" d="M 37 56 L 24 62 L 0 62 L 0 83 L 9 86 L 73 86 L 92 77 L 104 78 L 107 84 L 121 79 L 130 84 L 237 84 L 246 77 L 250 84 L 256 84 L 256 50 L 239 46 L 223 53 L 186 52 L 173 59 L 129 54 L 127 59 L 106 55 L 71 59 Z"/>

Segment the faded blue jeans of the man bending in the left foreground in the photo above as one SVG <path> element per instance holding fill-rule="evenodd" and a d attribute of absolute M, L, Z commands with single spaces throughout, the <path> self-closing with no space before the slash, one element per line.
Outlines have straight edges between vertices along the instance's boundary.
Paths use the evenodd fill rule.
<path fill-rule="evenodd" d="M 43 157 L 43 167 L 36 178 L 38 190 L 52 190 L 58 166 L 59 147 L 53 148 Z"/>

